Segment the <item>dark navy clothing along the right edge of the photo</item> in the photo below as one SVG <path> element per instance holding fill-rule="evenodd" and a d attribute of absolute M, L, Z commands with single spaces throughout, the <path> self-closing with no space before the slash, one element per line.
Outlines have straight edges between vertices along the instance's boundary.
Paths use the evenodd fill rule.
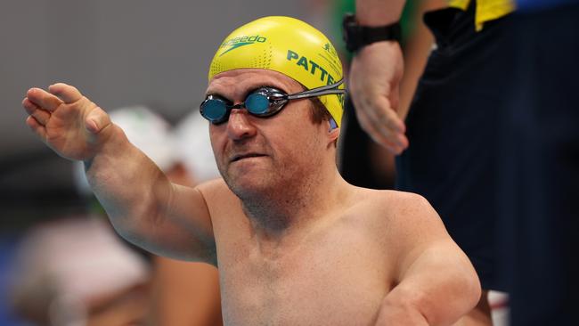
<path fill-rule="evenodd" d="M 497 198 L 511 325 L 577 325 L 579 4 L 505 27 Z"/>

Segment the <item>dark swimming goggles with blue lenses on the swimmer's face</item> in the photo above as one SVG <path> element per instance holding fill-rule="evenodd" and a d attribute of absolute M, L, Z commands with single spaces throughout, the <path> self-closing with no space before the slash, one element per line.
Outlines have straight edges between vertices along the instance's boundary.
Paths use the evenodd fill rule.
<path fill-rule="evenodd" d="M 337 83 L 315 87 L 295 94 L 286 94 L 273 87 L 260 87 L 251 92 L 244 102 L 235 105 L 219 95 L 209 94 L 201 103 L 200 112 L 203 118 L 207 118 L 214 125 L 227 121 L 232 109 L 246 109 L 252 116 L 268 118 L 280 112 L 290 100 L 328 94 L 344 94 L 346 90 L 338 89 L 342 83 L 343 79 L 340 79 Z"/>

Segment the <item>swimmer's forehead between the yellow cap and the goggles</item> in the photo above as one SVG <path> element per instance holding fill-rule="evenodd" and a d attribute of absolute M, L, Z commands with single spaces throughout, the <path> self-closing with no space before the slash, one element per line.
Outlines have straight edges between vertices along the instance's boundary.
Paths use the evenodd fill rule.
<path fill-rule="evenodd" d="M 257 86 L 275 86 L 286 92 L 298 92 L 303 87 L 293 78 L 268 69 L 233 69 L 217 74 L 209 81 L 206 94 L 253 89 Z"/>

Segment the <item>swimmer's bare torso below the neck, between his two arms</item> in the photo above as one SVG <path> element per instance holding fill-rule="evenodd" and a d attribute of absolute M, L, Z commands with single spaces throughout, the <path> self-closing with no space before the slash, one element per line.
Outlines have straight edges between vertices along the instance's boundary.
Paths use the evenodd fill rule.
<path fill-rule="evenodd" d="M 363 197 L 378 194 L 363 192 Z M 222 194 L 221 203 L 234 200 L 223 195 L 233 196 Z M 372 324 L 396 285 L 398 249 L 389 245 L 390 214 L 379 216 L 371 203 L 338 209 L 329 223 L 301 233 L 291 245 L 265 249 L 239 201 L 208 202 L 226 324 Z"/>

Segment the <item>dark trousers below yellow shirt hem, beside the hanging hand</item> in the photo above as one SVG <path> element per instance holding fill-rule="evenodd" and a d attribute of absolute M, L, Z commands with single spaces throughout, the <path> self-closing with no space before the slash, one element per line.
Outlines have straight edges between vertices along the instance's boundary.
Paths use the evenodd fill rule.
<path fill-rule="evenodd" d="M 406 119 L 408 150 L 396 186 L 430 201 L 463 249 L 484 289 L 506 289 L 496 271 L 496 120 L 505 81 L 497 40 L 509 17 L 475 31 L 474 6 L 428 12 L 436 50 Z"/>

